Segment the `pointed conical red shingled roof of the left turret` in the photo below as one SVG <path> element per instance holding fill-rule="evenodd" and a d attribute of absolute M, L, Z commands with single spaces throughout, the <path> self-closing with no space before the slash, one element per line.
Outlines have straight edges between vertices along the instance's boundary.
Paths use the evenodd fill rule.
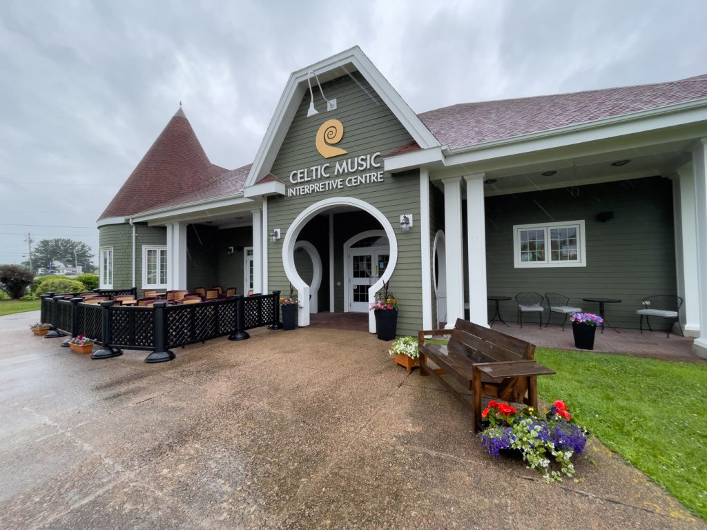
<path fill-rule="evenodd" d="M 226 171 L 209 162 L 180 107 L 99 220 L 151 210 L 185 196 Z"/>

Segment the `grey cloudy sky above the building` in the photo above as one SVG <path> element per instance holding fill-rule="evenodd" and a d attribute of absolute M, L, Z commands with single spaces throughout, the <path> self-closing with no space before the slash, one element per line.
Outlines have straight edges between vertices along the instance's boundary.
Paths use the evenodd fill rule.
<path fill-rule="evenodd" d="M 707 73 L 707 2 L 0 2 L 0 264 L 95 220 L 179 106 L 252 161 L 289 74 L 359 45 L 415 112 Z"/>

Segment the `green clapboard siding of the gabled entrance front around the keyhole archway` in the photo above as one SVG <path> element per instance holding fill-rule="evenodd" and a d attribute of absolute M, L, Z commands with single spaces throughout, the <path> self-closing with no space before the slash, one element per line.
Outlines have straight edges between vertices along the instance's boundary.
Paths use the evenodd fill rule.
<path fill-rule="evenodd" d="M 385 156 L 412 141 L 406 129 L 397 121 L 395 115 L 390 112 L 360 74 L 354 73 L 351 76 L 334 79 L 325 83 L 323 88 L 327 98 L 337 98 L 338 109 L 332 112 L 320 112 L 320 114 L 308 118 L 310 95 L 306 93 L 271 168 L 271 172 L 285 182 L 288 189 L 295 185 L 301 185 L 291 184 L 289 176 L 293 170 L 329 163 L 333 175 L 333 167 L 337 161 L 376 152 Z M 326 103 L 316 92 L 315 105 L 318 110 L 326 108 Z M 344 137 L 336 145 L 346 149 L 348 151 L 346 155 L 325 159 L 317 152 L 315 148 L 317 129 L 328 119 L 339 119 L 344 124 Z M 371 168 L 365 172 L 375 170 L 375 168 Z M 349 175 L 361 173 L 363 172 L 354 172 Z M 345 178 L 348 175 L 343 176 Z M 339 177 L 331 177 L 331 179 L 334 178 Z M 421 329 L 422 325 L 419 172 L 385 175 L 384 178 L 385 182 L 363 184 L 358 187 L 344 187 L 343 189 L 332 189 L 303 196 L 270 198 L 268 227 L 280 228 L 284 237 L 288 227 L 301 211 L 322 199 L 336 196 L 353 196 L 378 208 L 390 221 L 397 235 L 398 263 L 390 281 L 390 290 L 397 295 L 401 306 L 398 332 L 399 334 L 414 334 Z M 321 179 L 317 182 L 325 180 Z M 399 230 L 400 216 L 405 213 L 412 213 L 416 222 L 409 232 L 402 234 Z M 337 214 L 337 218 L 340 216 L 341 214 Z M 358 228 L 356 232 L 368 229 L 356 225 L 351 227 L 350 225 L 353 223 L 347 223 L 344 220 L 335 225 L 335 234 L 342 230 L 339 224 Z M 343 259 L 340 245 L 346 239 L 348 237 L 337 235 L 337 246 L 335 247 L 337 261 Z M 286 291 L 289 289 L 289 282 L 281 264 L 281 241 L 268 245 L 269 288 Z M 325 260 L 322 259 L 322 261 Z M 341 278 L 341 269 L 337 269 L 337 261 L 334 264 L 337 275 L 334 278 L 335 282 L 342 281 L 339 279 Z M 340 288 L 335 288 L 334 291 L 335 298 L 337 298 L 337 311 L 343 310 L 343 295 L 339 292 L 340 290 Z"/>

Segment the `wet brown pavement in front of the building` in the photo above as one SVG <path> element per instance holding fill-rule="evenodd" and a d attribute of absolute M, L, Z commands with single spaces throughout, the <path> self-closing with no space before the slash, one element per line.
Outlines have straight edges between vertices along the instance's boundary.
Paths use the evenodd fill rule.
<path fill-rule="evenodd" d="M 90 360 L 0 318 L 0 528 L 707 529 L 596 441 L 547 484 L 360 331 Z"/>

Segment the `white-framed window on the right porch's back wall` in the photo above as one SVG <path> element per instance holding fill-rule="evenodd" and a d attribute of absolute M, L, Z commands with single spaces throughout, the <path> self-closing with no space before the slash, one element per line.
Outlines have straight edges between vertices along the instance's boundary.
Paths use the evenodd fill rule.
<path fill-rule="evenodd" d="M 516 269 L 587 266 L 584 220 L 513 226 Z"/>

